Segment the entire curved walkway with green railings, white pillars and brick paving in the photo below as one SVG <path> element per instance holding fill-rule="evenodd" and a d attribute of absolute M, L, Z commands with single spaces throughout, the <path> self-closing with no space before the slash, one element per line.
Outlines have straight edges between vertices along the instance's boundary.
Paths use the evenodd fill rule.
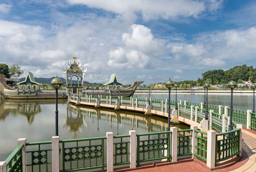
<path fill-rule="evenodd" d="M 146 115 L 168 116 L 168 100 L 72 95 L 69 102 L 116 110 L 140 111 Z M 177 109 L 175 109 L 177 103 Z M 184 122 L 190 129 L 98 138 L 26 143 L 0 163 L 7 171 L 254 171 L 255 115 L 250 110 L 233 110 L 233 130 L 227 131 L 230 109 L 186 101 L 170 101 L 171 121 Z M 93 132 L 93 131 L 88 131 Z M 156 163 L 158 162 L 158 163 Z M 154 164 L 153 164 L 154 163 Z M 125 167 L 129 166 L 129 167 Z M 149 168 L 149 169 L 145 169 Z M 2 172 L 2 171 L 1 171 Z"/>

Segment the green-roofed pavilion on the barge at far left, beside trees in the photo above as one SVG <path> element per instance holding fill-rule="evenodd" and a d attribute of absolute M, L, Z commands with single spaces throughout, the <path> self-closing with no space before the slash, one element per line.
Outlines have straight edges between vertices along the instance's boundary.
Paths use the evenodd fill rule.
<path fill-rule="evenodd" d="M 17 83 L 20 90 L 40 90 L 40 84 L 35 81 L 34 75 L 31 72 L 27 72 L 26 79 Z"/>

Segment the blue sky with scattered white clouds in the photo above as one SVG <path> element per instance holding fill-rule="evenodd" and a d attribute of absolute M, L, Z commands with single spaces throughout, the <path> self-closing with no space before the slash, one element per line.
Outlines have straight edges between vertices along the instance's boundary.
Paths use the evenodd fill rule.
<path fill-rule="evenodd" d="M 197 80 L 208 70 L 256 67 L 256 1 L 0 0 L 0 63 L 34 77 L 145 84 Z"/>

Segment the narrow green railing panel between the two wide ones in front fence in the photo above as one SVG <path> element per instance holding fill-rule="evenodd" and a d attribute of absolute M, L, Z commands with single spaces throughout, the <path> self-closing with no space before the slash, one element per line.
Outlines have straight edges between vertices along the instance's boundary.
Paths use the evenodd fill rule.
<path fill-rule="evenodd" d="M 130 163 L 130 135 L 120 135 L 120 136 L 114 136 L 114 163 L 113 165 L 122 165 L 122 164 L 128 164 Z M 119 139 L 117 143 L 115 143 L 115 140 Z"/>

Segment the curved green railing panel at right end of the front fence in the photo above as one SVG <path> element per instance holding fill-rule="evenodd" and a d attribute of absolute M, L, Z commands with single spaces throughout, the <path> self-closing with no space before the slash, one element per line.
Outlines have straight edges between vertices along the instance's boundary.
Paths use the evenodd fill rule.
<path fill-rule="evenodd" d="M 239 156 L 240 130 L 239 128 L 216 134 L 215 166 L 218 162 L 227 160 L 235 155 Z M 220 137 L 222 139 L 218 139 Z"/>

